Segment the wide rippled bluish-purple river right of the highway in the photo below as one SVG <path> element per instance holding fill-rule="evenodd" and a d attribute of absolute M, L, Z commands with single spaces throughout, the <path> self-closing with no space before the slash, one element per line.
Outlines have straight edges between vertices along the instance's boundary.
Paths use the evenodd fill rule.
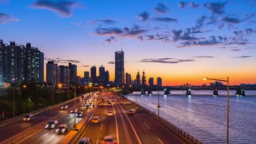
<path fill-rule="evenodd" d="M 226 91 L 170 91 L 170 95 L 160 92 L 160 116 L 183 129 L 204 143 L 226 143 Z M 246 91 L 246 96 L 229 97 L 229 142 L 256 143 L 256 91 Z M 140 95 L 137 103 L 158 113 L 158 92 Z M 127 95 L 124 95 L 125 97 Z M 135 101 L 135 92 L 128 95 Z"/>

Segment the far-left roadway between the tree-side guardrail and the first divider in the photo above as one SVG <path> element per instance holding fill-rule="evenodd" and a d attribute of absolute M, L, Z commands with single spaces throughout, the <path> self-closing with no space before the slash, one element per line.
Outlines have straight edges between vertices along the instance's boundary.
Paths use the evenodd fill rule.
<path fill-rule="evenodd" d="M 77 104 L 82 103 L 82 100 L 77 99 L 76 103 Z M 69 109 L 70 107 L 74 106 L 74 100 L 70 101 L 69 103 L 67 103 L 65 105 L 68 105 L 68 109 Z M 61 106 L 57 106 L 54 109 L 51 109 L 51 110 L 48 110 L 48 111 L 45 111 L 45 112 L 42 112 L 42 113 L 38 113 L 37 115 L 34 115 L 31 118 L 31 121 L 23 122 L 21 120 L 21 121 L 15 122 L 15 123 L 5 125 L 4 127 L 0 128 L 0 135 L 1 135 L 0 136 L 0 143 L 4 140 L 10 139 L 11 137 L 13 137 L 15 135 L 18 135 L 18 134 L 22 133 L 23 131 L 26 131 L 26 130 L 34 127 L 36 124 L 42 123 L 46 120 L 50 121 L 50 119 L 52 117 L 60 115 L 60 114 L 65 115 L 65 113 L 66 113 L 66 111 L 61 110 Z M 67 115 L 66 117 L 72 117 L 72 116 Z"/>

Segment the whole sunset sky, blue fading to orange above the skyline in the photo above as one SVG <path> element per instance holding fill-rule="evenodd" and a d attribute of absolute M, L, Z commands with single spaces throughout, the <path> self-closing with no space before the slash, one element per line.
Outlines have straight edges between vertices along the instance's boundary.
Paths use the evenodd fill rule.
<path fill-rule="evenodd" d="M 114 52 L 125 72 L 163 85 L 202 85 L 201 77 L 256 83 L 256 1 L 0 0 L 0 39 L 30 42 L 45 63 L 103 65 L 114 80 Z M 46 78 L 46 77 L 45 77 Z"/>

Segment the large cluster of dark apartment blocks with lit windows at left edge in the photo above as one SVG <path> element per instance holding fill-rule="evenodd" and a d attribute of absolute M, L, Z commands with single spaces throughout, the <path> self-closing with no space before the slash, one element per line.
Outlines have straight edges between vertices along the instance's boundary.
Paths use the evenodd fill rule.
<path fill-rule="evenodd" d="M 10 41 L 10 45 L 0 40 L 0 81 L 20 82 L 34 79 L 44 82 L 44 53 L 30 43 L 17 45 Z"/>

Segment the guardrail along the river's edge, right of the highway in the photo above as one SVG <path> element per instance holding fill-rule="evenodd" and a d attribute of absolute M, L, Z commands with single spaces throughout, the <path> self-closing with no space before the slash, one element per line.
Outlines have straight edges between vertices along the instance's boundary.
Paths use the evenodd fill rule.
<path fill-rule="evenodd" d="M 129 99 L 127 99 L 129 100 Z M 131 101 L 131 100 L 130 100 Z M 196 144 L 202 144 L 201 141 L 197 140 L 195 137 L 189 135 L 187 132 L 185 132 L 184 130 L 182 130 L 181 128 L 177 127 L 176 125 L 172 124 L 171 122 L 167 121 L 165 118 L 162 118 L 158 115 L 156 115 L 155 112 L 152 112 L 150 110 L 148 110 L 146 107 L 143 107 L 133 101 L 131 101 L 133 104 L 135 104 L 137 107 L 139 107 L 140 109 L 142 109 L 143 111 L 145 111 L 146 113 L 149 113 L 150 115 L 152 115 L 153 117 L 159 119 L 161 122 L 165 123 L 166 125 L 168 125 L 169 127 L 171 127 L 172 129 L 176 130 L 179 134 L 181 134 L 182 136 L 184 136 L 185 138 L 187 138 L 189 141 L 191 141 L 192 143 L 196 143 Z"/>

